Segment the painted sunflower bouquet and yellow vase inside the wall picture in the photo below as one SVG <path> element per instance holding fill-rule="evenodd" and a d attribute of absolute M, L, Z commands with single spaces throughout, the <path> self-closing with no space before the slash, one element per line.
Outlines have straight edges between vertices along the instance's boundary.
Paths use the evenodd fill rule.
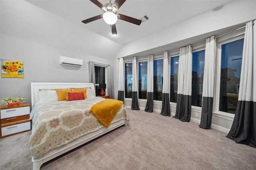
<path fill-rule="evenodd" d="M 2 70 L 8 72 L 11 77 L 17 77 L 23 71 L 23 63 L 20 61 L 4 61 Z"/>

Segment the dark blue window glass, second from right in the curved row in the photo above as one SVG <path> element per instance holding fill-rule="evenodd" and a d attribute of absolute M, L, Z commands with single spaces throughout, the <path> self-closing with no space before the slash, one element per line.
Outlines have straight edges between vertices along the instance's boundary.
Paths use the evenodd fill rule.
<path fill-rule="evenodd" d="M 202 107 L 204 52 L 192 53 L 192 106 Z"/>

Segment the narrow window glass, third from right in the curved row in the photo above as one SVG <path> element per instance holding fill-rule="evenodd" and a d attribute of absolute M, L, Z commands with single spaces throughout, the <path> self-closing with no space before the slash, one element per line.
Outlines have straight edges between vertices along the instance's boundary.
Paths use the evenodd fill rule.
<path fill-rule="evenodd" d="M 170 102 L 177 103 L 179 56 L 171 57 Z"/>

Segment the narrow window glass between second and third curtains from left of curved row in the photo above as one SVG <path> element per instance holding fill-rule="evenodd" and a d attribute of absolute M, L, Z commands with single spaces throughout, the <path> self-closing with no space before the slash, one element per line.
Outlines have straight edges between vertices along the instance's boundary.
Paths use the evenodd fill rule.
<path fill-rule="evenodd" d="M 139 62 L 139 99 L 147 99 L 147 68 L 148 62 Z"/>

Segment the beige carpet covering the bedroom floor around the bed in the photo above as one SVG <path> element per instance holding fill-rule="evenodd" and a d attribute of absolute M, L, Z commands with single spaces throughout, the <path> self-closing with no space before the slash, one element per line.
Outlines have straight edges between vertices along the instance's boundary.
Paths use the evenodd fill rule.
<path fill-rule="evenodd" d="M 143 110 L 130 123 L 80 147 L 41 170 L 255 170 L 256 149 L 215 129 Z M 26 132 L 0 139 L 1 170 L 32 170 Z"/>

